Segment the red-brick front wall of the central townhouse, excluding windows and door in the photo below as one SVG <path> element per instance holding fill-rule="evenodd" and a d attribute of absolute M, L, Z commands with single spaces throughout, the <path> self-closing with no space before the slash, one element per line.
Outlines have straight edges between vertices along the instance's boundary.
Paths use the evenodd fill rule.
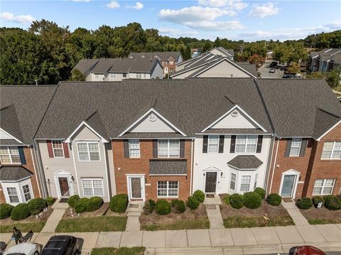
<path fill-rule="evenodd" d="M 190 196 L 190 170 L 192 141 L 185 140 L 185 155 L 187 160 L 187 176 L 156 176 L 149 175 L 149 160 L 153 159 L 153 141 L 140 140 L 140 158 L 124 158 L 124 141 L 113 140 L 112 151 L 114 156 L 114 175 L 117 194 L 127 193 L 126 174 L 144 174 L 146 200 L 157 200 L 157 182 L 158 180 L 177 180 L 178 181 L 178 199 L 187 200 Z M 163 158 L 164 159 L 164 158 Z M 172 159 L 169 159 L 172 160 Z"/>

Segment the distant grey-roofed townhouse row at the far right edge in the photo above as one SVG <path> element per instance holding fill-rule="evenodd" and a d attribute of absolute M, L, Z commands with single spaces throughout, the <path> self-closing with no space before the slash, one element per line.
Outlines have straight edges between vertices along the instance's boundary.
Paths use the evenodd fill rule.
<path fill-rule="evenodd" d="M 341 67 L 341 48 L 326 48 L 321 51 L 310 51 L 308 58 L 310 72 L 329 72 Z"/>

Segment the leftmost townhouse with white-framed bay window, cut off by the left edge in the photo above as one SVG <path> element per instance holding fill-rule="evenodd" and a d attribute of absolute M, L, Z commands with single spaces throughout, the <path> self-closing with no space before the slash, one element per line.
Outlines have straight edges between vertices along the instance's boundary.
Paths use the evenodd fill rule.
<path fill-rule="evenodd" d="M 56 86 L 1 86 L 0 200 L 11 205 L 41 197 L 33 137 Z"/>

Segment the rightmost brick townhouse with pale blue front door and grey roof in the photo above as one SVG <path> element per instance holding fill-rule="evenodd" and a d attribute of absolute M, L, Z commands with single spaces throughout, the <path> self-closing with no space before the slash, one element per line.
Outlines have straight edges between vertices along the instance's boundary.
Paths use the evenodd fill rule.
<path fill-rule="evenodd" d="M 268 192 L 340 194 L 341 104 L 326 82 L 266 79 L 259 87 L 276 133 Z"/>

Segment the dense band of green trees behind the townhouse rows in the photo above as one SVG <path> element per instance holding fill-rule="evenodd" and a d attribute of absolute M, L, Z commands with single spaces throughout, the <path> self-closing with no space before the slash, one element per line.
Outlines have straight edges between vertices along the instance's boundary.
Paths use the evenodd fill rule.
<path fill-rule="evenodd" d="M 341 38 L 341 31 L 334 33 Z M 323 39 L 321 48 L 330 41 L 341 45 L 340 40 L 326 42 Z M 0 46 L 1 85 L 33 85 L 36 82 L 43 85 L 68 80 L 70 71 L 82 58 L 125 58 L 131 52 L 180 51 L 186 60 L 190 58 L 191 48 L 201 48 L 205 52 L 222 46 L 234 49 L 237 60 L 248 60 L 254 54 L 265 57 L 268 50 L 282 47 L 278 50 L 281 52 L 278 58 L 288 61 L 292 58 L 289 55 L 296 56 L 303 52 L 304 42 L 263 40 L 247 43 L 225 38 L 215 41 L 171 38 L 159 35 L 154 28 L 144 29 L 139 23 L 114 28 L 100 26 L 94 31 L 77 28 L 72 32 L 68 26 L 61 27 L 53 21 L 41 20 L 33 21 L 27 30 L 0 28 Z M 328 44 L 328 47 L 335 45 Z M 296 48 L 301 49 L 300 54 L 292 52 Z M 296 58 L 291 61 L 294 60 Z"/>

